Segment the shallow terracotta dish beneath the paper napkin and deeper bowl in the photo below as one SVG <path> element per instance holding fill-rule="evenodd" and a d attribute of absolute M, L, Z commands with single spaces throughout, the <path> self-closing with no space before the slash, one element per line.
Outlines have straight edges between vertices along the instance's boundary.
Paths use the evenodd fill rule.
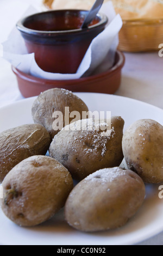
<path fill-rule="evenodd" d="M 114 94 L 121 84 L 121 70 L 123 68 L 125 58 L 122 52 L 117 51 L 115 64 L 108 71 L 83 77 L 76 80 L 46 80 L 27 75 L 12 66 L 18 88 L 24 97 L 37 96 L 45 90 L 52 88 L 64 88 L 72 92 L 95 92 Z"/>

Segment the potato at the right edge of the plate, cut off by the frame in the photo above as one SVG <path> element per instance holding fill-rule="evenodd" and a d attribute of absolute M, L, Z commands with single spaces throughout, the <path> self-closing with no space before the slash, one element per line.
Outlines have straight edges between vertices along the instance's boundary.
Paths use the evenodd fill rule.
<path fill-rule="evenodd" d="M 163 181 L 163 126 L 152 119 L 131 124 L 122 140 L 124 159 L 129 169 L 144 182 Z"/>

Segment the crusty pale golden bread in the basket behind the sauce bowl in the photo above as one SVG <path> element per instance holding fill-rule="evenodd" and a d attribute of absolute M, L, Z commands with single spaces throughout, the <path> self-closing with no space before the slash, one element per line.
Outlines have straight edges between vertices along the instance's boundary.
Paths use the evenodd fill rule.
<path fill-rule="evenodd" d="M 51 9 L 89 10 L 95 0 L 44 0 Z M 104 0 L 104 3 L 109 0 Z M 116 13 L 123 20 L 162 19 L 163 0 L 112 0 Z"/>

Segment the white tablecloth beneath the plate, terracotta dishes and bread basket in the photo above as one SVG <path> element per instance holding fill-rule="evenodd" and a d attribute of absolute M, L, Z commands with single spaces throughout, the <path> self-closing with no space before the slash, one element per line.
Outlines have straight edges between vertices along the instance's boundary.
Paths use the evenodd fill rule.
<path fill-rule="evenodd" d="M 40 8 L 41 2 L 42 0 L 1 0 L 0 43 L 7 40 L 11 29 L 29 5 Z M 116 95 L 141 100 L 163 109 L 163 57 L 159 57 L 158 52 L 124 53 L 126 64 L 122 70 L 121 87 Z M 18 90 L 10 63 L 0 58 L 0 67 L 0 107 L 2 107 L 23 97 Z M 163 233 L 139 245 L 163 245 Z"/>

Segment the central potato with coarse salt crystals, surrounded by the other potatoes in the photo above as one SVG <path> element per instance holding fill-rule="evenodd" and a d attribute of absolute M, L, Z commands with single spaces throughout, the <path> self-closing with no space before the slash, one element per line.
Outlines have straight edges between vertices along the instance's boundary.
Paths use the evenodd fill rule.
<path fill-rule="evenodd" d="M 99 120 L 95 119 L 78 120 L 66 126 L 54 137 L 49 148 L 49 155 L 62 163 L 76 180 L 98 169 L 119 166 L 123 160 L 124 120 L 112 117 L 111 130 L 107 131 L 90 129 L 92 122 L 99 128 Z"/>

